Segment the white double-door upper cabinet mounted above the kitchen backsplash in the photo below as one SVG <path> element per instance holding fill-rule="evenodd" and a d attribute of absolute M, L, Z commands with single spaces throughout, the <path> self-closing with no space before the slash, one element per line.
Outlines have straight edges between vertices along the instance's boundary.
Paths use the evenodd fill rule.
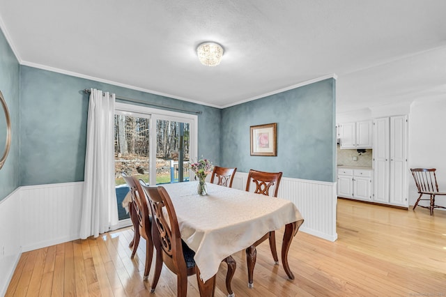
<path fill-rule="evenodd" d="M 341 148 L 372 148 L 371 121 L 341 123 L 338 126 Z"/>

